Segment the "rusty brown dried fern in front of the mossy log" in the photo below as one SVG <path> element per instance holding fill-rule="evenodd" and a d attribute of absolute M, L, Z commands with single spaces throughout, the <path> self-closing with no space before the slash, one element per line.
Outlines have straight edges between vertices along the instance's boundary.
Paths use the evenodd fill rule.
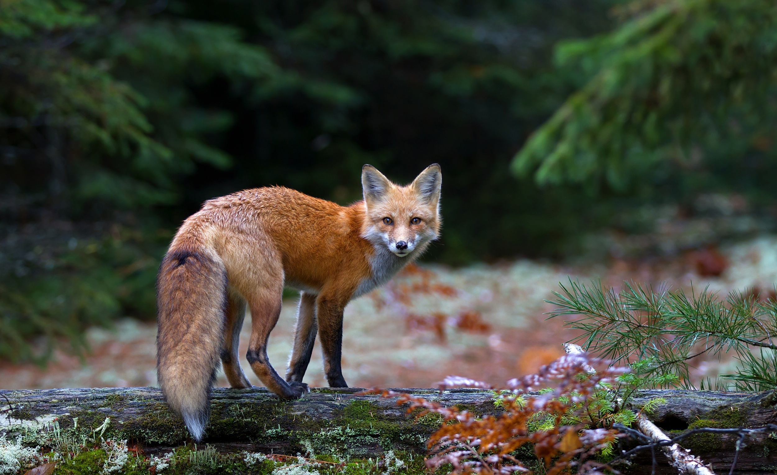
<path fill-rule="evenodd" d="M 587 369 L 594 366 L 596 373 Z M 611 428 L 587 429 L 584 425 L 565 425 L 573 420 L 572 411 L 587 411 L 587 401 L 602 383 L 610 382 L 622 370 L 607 367 L 587 355 L 566 355 L 538 373 L 507 382 L 499 400 L 503 413 L 479 417 L 458 407 L 443 407 L 437 402 L 390 390 L 375 390 L 384 397 L 398 397 L 397 404 L 409 404 L 408 411 L 421 408 L 424 414 L 441 414 L 443 424 L 431 435 L 428 444 L 430 469 L 450 463 L 454 473 L 531 472 L 515 451 L 531 444 L 547 475 L 562 471 L 600 473 L 605 463 L 594 455 L 618 437 Z M 480 381 L 448 376 L 438 383 L 441 390 L 451 387 L 490 388 Z M 529 394 L 529 391 L 542 390 Z M 552 421 L 531 430 L 538 418 Z"/>

